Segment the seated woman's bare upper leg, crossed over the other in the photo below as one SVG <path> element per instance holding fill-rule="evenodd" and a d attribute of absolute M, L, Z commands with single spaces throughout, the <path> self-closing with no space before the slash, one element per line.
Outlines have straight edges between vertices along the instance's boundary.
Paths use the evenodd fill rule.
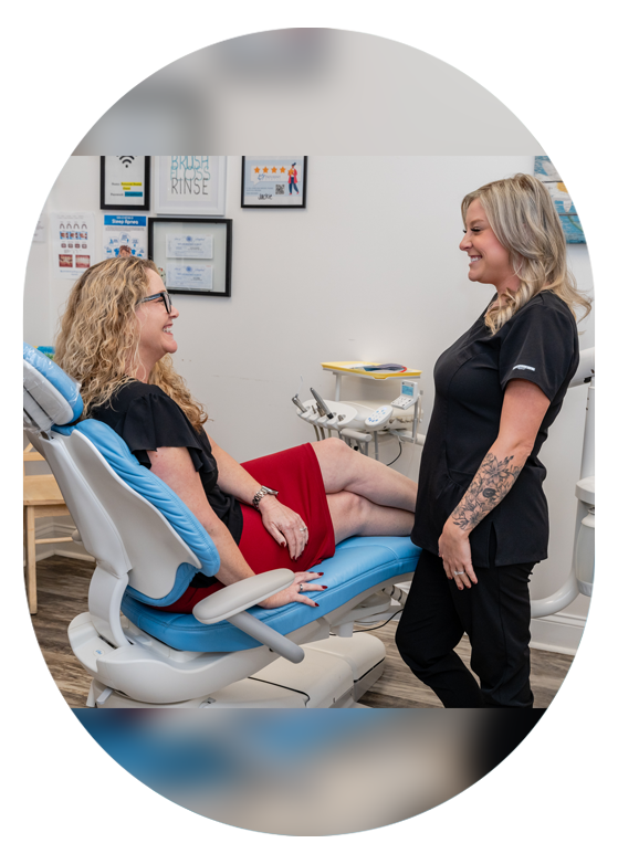
<path fill-rule="evenodd" d="M 413 513 L 417 484 L 337 438 L 312 443 L 327 495 L 353 492 L 383 507 Z"/>

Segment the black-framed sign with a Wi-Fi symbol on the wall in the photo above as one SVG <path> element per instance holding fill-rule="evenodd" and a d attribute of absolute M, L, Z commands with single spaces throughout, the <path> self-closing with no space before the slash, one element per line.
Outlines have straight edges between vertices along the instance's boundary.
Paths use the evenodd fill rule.
<path fill-rule="evenodd" d="M 150 157 L 101 157 L 101 209 L 150 209 Z"/>

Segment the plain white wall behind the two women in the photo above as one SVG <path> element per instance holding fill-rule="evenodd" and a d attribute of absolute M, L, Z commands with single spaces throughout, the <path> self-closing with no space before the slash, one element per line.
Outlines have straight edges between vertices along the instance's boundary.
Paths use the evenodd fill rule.
<path fill-rule="evenodd" d="M 176 366 L 207 405 L 209 434 L 240 462 L 314 440 L 290 399 L 298 390 L 308 398 L 310 386 L 333 398 L 335 379 L 320 363 L 347 359 L 421 369 L 426 431 L 434 361 L 493 293 L 468 281 L 459 250 L 461 199 L 490 180 L 532 173 L 533 158 L 310 157 L 306 210 L 262 211 L 240 207 L 241 158 L 230 157 L 231 297 L 174 301 L 180 312 Z M 70 157 L 45 210 L 93 211 L 101 246 L 98 185 L 97 157 Z M 52 276 L 49 240 L 48 233 L 46 243 L 33 243 L 28 260 L 23 333 L 33 345 L 53 344 L 72 284 Z M 568 252 L 579 286 L 590 289 L 587 246 Z M 580 330 L 582 347 L 591 346 L 594 315 Z M 392 387 L 347 381 L 342 396 L 362 399 L 370 391 L 388 402 Z M 549 559 L 533 575 L 535 599 L 556 590 L 570 568 L 585 390 L 567 393 L 542 451 L 552 523 Z M 384 461 L 397 455 L 397 443 L 389 444 L 380 451 Z M 394 467 L 416 478 L 418 463 L 418 449 L 407 446 Z M 578 598 L 565 613 L 585 615 L 588 604 Z"/>

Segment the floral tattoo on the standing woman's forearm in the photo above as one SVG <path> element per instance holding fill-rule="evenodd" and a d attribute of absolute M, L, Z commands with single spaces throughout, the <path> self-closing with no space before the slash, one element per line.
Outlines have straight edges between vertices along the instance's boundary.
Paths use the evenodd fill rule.
<path fill-rule="evenodd" d="M 451 514 L 459 528 L 471 531 L 500 504 L 517 480 L 524 464 L 513 465 L 513 460 L 514 456 L 506 456 L 499 462 L 493 453 L 488 453 L 468 492 Z"/>

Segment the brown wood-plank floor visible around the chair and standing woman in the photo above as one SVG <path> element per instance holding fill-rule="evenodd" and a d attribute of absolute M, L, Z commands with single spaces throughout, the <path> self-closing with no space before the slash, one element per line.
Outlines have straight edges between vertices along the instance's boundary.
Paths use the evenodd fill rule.
<path fill-rule="evenodd" d="M 36 565 L 39 611 L 31 618 L 34 655 L 39 665 L 49 670 L 55 686 L 70 708 L 86 705 L 91 679 L 75 660 L 69 644 L 69 623 L 80 612 L 87 611 L 91 561 L 52 556 Z M 373 630 L 373 635 L 386 645 L 383 676 L 368 691 L 362 704 L 373 708 L 441 707 L 433 691 L 421 684 L 399 656 L 395 645 L 395 622 Z M 470 667 L 470 643 L 464 636 L 457 649 Z M 547 708 L 566 678 L 573 657 L 548 651 L 531 650 L 531 685 L 534 707 Z"/>

